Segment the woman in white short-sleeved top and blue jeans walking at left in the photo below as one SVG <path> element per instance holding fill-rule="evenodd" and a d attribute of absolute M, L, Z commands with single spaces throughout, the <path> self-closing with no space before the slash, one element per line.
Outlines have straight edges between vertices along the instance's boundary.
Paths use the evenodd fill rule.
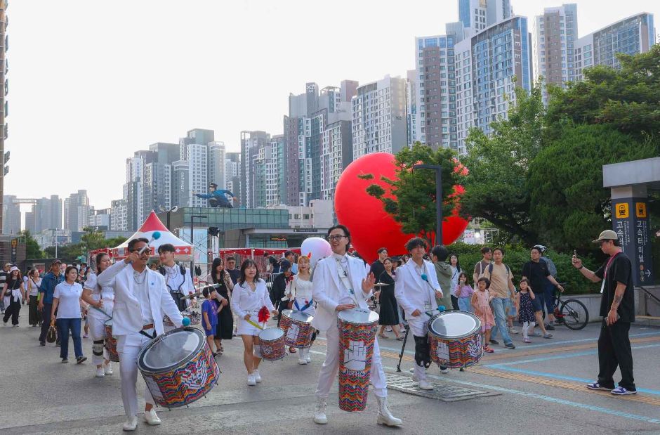
<path fill-rule="evenodd" d="M 76 283 L 78 269 L 68 266 L 64 273 L 65 281 L 55 286 L 53 292 L 53 308 L 51 309 L 51 326 L 55 326 L 55 311 L 58 312 L 58 330 L 60 331 L 60 358 L 62 363 L 69 362 L 69 331 L 73 338 L 73 348 L 78 364 L 87 358 L 82 353 L 80 339 L 80 297 L 82 285 Z"/>

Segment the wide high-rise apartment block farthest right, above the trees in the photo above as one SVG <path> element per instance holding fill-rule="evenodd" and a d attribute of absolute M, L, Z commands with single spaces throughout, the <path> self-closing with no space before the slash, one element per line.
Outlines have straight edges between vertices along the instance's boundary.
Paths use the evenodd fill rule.
<path fill-rule="evenodd" d="M 616 53 L 646 53 L 655 44 L 652 13 L 638 13 L 578 39 L 575 45 L 575 77 L 583 79 L 583 69 L 593 65 L 619 68 Z"/>

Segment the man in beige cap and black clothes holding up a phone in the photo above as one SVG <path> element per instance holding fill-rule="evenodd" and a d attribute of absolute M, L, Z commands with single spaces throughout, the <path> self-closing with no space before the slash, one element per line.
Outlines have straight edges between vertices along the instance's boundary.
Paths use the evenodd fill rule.
<path fill-rule="evenodd" d="M 600 283 L 600 337 L 598 337 L 598 381 L 588 384 L 592 390 L 609 391 L 616 396 L 637 394 L 633 377 L 633 351 L 631 349 L 631 323 L 635 321 L 635 295 L 633 294 L 633 266 L 619 246 L 619 236 L 605 230 L 593 240 L 609 258 L 598 271 L 584 267 L 582 260 L 573 256 L 573 266 L 593 283 Z M 621 371 L 619 387 L 614 388 L 616 366 Z"/>

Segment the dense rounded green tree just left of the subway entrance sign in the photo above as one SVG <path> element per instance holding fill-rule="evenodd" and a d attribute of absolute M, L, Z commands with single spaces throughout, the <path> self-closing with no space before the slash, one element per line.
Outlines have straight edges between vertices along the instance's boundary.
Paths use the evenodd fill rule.
<path fill-rule="evenodd" d="M 612 226 L 602 165 L 659 153 L 653 143 L 640 143 L 611 124 L 565 126 L 529 167 L 531 217 L 540 240 L 564 252 L 593 249 L 594 233 Z"/>

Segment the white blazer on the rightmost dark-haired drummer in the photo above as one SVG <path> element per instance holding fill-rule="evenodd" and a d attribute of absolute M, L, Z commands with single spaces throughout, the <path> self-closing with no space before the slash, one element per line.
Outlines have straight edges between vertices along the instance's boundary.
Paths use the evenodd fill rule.
<path fill-rule="evenodd" d="M 415 262 L 409 259 L 406 264 L 397 268 L 394 294 L 397 302 L 404 309 L 407 319 L 414 318 L 413 311 L 419 310 L 424 313 L 424 304 L 431 303 L 431 310 L 437 309 L 435 301 L 435 290 L 440 290 L 440 284 L 435 275 L 435 266 L 430 261 L 424 261 L 428 283 L 422 280 L 415 270 Z M 430 284 L 430 285 L 429 285 Z M 428 319 L 428 316 L 425 316 Z"/>

